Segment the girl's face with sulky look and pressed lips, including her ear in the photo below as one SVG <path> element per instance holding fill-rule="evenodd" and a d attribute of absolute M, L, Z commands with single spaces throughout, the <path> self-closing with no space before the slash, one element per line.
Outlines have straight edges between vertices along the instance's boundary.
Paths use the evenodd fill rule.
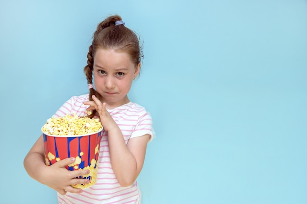
<path fill-rule="evenodd" d="M 108 109 L 129 102 L 127 94 L 140 67 L 141 63 L 135 66 L 126 52 L 97 49 L 93 66 L 94 83 Z"/>

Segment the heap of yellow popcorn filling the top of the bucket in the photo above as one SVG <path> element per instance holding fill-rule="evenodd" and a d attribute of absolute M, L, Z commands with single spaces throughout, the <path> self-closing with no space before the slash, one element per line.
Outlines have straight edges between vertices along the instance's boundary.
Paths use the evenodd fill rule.
<path fill-rule="evenodd" d="M 43 126 L 46 134 L 56 136 L 77 136 L 95 133 L 102 129 L 98 118 L 78 117 L 77 115 L 64 115 L 63 117 L 51 117 Z"/>

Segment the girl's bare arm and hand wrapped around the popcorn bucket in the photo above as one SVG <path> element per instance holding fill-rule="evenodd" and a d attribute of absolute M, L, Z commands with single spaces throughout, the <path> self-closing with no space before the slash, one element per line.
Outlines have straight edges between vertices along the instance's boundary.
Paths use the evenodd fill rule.
<path fill-rule="evenodd" d="M 31 178 L 53 188 L 62 195 L 66 192 L 81 193 L 81 189 L 72 187 L 72 184 L 87 183 L 87 179 L 76 179 L 89 173 L 89 170 L 69 171 L 66 165 L 74 163 L 75 158 L 66 158 L 55 162 L 51 166 L 45 164 L 44 140 L 41 135 L 24 159 L 26 172 Z"/>

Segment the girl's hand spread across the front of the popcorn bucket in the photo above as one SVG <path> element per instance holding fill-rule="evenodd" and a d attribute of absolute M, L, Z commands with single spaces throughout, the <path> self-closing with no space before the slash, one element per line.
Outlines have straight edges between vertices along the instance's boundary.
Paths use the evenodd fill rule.
<path fill-rule="evenodd" d="M 75 158 L 66 158 L 46 166 L 41 182 L 53 188 L 61 195 L 65 195 L 66 192 L 82 193 L 82 189 L 74 188 L 71 185 L 89 183 L 88 179 L 76 179 L 76 177 L 89 174 L 90 170 L 67 170 L 65 166 L 74 163 L 74 161 Z"/>

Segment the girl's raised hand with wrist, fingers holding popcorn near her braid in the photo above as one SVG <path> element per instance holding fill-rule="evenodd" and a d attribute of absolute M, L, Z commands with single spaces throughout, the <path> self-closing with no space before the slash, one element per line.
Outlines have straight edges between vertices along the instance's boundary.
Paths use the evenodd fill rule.
<path fill-rule="evenodd" d="M 105 103 L 102 103 L 95 95 L 92 95 L 94 101 L 84 102 L 84 105 L 89 105 L 86 110 L 91 111 L 96 109 L 100 116 L 100 122 L 104 131 L 112 130 L 113 128 L 118 128 L 118 125 L 113 120 L 110 113 L 105 108 Z"/>

